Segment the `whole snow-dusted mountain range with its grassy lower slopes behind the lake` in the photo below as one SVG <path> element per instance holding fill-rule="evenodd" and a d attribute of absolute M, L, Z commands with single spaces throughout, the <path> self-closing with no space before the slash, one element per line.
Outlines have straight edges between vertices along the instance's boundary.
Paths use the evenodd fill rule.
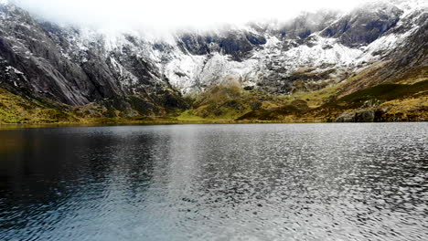
<path fill-rule="evenodd" d="M 377 1 L 156 38 L 59 26 L 2 0 L 0 117 L 426 120 L 427 9 Z"/>

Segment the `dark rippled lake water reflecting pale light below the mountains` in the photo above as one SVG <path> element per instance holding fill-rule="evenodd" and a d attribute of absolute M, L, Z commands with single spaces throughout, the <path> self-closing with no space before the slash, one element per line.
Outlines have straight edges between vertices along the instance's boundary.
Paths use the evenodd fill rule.
<path fill-rule="evenodd" d="M 0 131 L 0 240 L 428 240 L 428 123 Z"/>

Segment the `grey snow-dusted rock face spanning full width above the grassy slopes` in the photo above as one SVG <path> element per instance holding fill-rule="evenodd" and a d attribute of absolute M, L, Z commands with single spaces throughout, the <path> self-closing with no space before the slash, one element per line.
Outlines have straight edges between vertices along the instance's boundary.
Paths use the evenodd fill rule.
<path fill-rule="evenodd" d="M 427 6 L 409 1 L 181 31 L 172 41 L 58 26 L 0 2 L 0 84 L 30 98 L 144 115 L 186 109 L 184 95 L 228 81 L 274 94 L 321 89 L 379 60 L 392 59 L 394 71 L 426 66 Z"/>

